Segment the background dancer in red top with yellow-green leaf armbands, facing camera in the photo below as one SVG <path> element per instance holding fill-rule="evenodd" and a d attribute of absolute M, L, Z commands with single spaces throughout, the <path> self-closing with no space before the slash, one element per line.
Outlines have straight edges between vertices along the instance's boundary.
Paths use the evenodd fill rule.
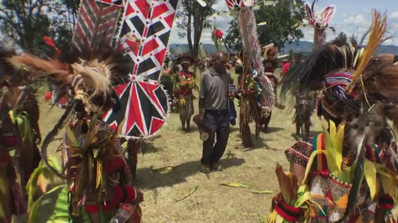
<path fill-rule="evenodd" d="M 174 78 L 174 95 L 178 98 L 179 105 L 179 119 L 181 120 L 181 127 L 183 131 L 189 132 L 191 130 L 190 122 L 193 110 L 193 92 L 198 90 L 198 85 L 193 72 L 189 71 L 189 67 L 194 60 L 191 56 L 183 55 L 177 59 L 181 64 L 182 71 Z M 185 123 L 187 127 L 185 129 Z"/>

